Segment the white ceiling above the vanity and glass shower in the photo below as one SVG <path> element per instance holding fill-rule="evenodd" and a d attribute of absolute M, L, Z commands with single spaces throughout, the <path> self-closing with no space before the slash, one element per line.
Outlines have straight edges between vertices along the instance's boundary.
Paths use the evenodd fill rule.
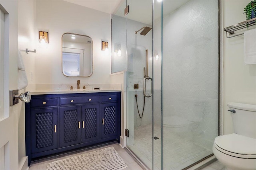
<path fill-rule="evenodd" d="M 94 10 L 124 17 L 126 0 L 64 0 Z M 166 16 L 190 0 L 164 0 L 163 16 Z M 127 0 L 128 19 L 152 25 L 152 0 Z M 154 0 L 154 20 L 161 18 L 161 0 Z"/>

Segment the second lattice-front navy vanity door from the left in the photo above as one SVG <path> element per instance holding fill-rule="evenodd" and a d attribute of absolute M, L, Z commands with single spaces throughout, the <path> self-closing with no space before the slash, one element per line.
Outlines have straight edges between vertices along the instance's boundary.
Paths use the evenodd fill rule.
<path fill-rule="evenodd" d="M 81 143 L 81 106 L 60 107 L 60 147 Z"/>

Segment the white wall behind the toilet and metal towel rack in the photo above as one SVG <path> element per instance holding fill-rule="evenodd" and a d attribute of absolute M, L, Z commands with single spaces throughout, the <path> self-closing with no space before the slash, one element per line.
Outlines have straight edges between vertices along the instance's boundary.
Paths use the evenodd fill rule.
<path fill-rule="evenodd" d="M 249 2 L 250 0 L 223 0 L 223 27 L 245 21 L 243 10 Z M 233 123 L 226 104 L 256 104 L 256 64 L 244 64 L 244 35 L 229 39 L 223 37 L 223 62 L 223 125 L 224 134 L 230 134 L 233 133 Z"/>

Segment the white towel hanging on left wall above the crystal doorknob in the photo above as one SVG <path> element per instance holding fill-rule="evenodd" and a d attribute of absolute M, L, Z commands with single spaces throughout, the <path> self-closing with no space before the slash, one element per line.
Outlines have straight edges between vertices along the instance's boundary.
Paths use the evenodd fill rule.
<path fill-rule="evenodd" d="M 18 90 L 28 86 L 28 79 L 20 50 L 18 50 Z"/>

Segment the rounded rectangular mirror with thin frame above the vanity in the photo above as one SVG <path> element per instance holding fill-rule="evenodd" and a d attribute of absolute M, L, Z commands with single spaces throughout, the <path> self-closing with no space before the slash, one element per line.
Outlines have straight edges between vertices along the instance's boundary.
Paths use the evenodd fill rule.
<path fill-rule="evenodd" d="M 93 72 L 92 39 L 87 35 L 62 35 L 62 73 L 68 77 L 90 77 Z"/>

